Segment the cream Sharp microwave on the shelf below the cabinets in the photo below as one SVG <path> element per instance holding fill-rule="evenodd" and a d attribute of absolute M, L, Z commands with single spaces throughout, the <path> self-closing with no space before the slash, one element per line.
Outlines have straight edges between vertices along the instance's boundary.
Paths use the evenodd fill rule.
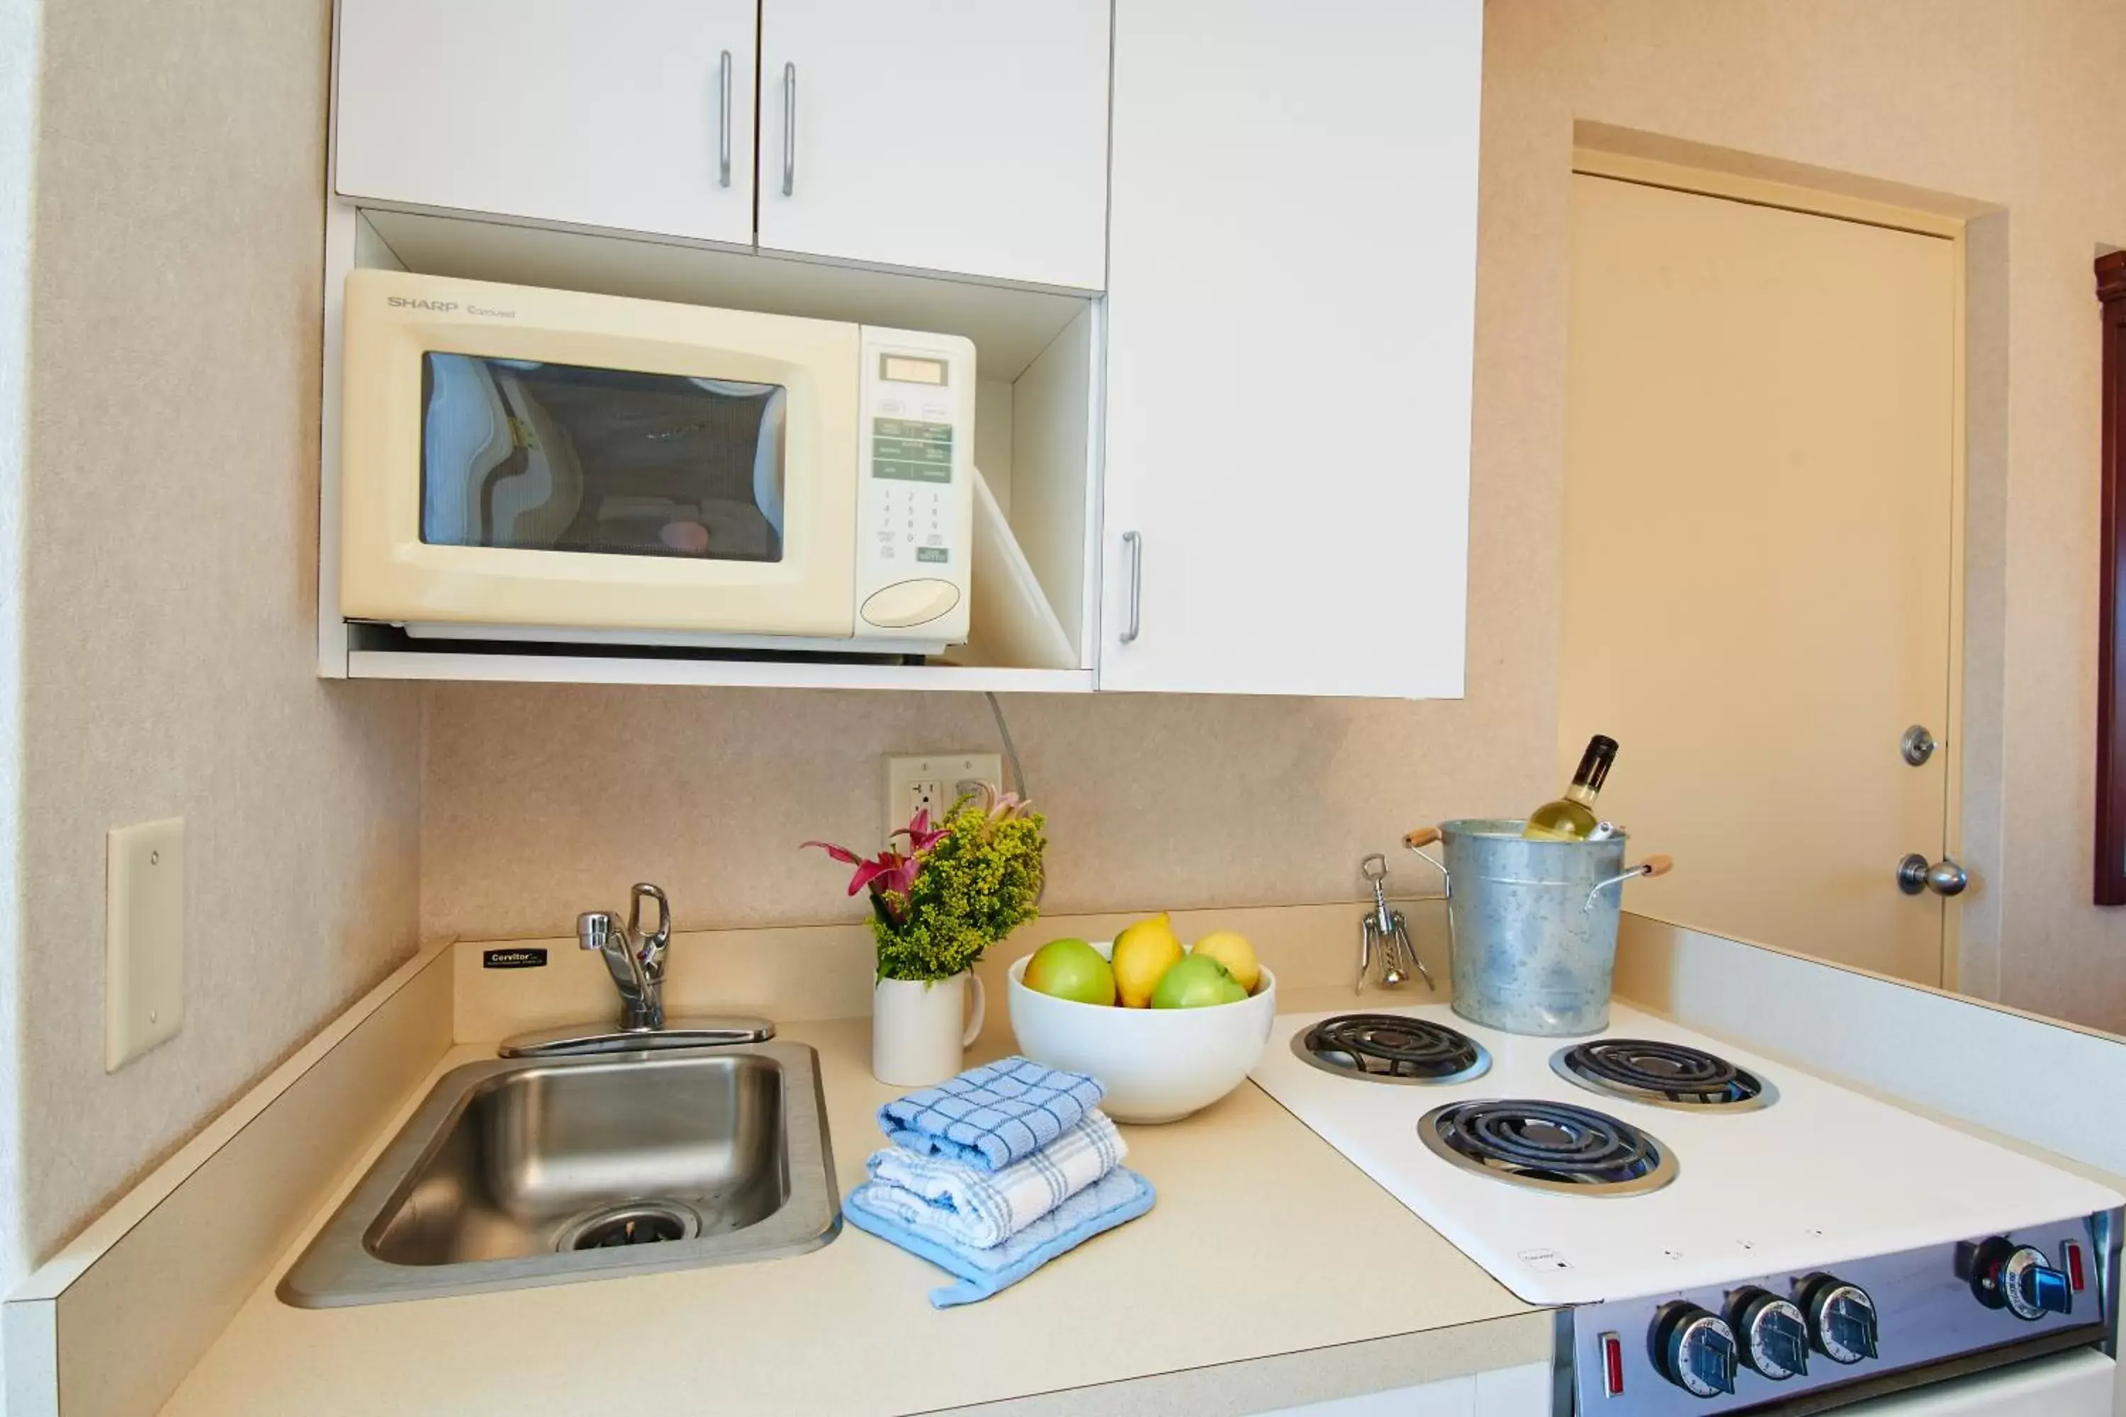
<path fill-rule="evenodd" d="M 347 276 L 340 616 L 415 637 L 967 639 L 974 344 Z"/>

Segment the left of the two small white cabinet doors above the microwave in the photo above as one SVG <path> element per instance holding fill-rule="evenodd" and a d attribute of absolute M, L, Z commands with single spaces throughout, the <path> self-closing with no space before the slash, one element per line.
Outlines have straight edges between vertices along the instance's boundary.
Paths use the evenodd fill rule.
<path fill-rule="evenodd" d="M 753 242 L 753 0 L 340 0 L 351 200 Z"/>

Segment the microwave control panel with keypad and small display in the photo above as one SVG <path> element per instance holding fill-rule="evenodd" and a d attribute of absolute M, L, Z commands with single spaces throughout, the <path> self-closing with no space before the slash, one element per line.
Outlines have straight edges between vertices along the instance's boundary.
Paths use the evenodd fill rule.
<path fill-rule="evenodd" d="M 974 344 L 863 331 L 857 637 L 959 644 L 974 554 Z"/>

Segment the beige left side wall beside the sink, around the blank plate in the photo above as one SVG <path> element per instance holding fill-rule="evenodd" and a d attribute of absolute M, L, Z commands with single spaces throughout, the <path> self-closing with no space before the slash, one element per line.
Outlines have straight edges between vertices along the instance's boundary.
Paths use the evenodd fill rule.
<path fill-rule="evenodd" d="M 327 21 L 325 0 L 43 15 L 19 962 L 32 1258 L 415 945 L 419 695 L 313 678 Z M 104 831 L 162 816 L 187 822 L 185 1030 L 106 1077 Z"/>

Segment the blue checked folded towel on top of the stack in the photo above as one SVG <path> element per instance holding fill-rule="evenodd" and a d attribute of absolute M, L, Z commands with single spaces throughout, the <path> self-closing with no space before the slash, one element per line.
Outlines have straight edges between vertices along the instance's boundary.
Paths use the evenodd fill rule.
<path fill-rule="evenodd" d="M 1108 1090 L 1084 1073 L 1003 1058 L 878 1109 L 878 1130 L 916 1156 L 1001 1171 L 1078 1126 Z"/>

